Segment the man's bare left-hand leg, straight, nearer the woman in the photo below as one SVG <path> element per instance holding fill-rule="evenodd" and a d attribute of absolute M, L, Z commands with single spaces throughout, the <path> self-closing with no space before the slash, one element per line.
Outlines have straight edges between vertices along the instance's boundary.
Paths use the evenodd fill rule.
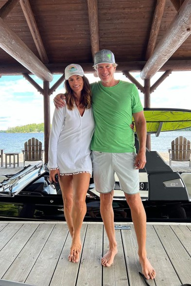
<path fill-rule="evenodd" d="M 113 213 L 113 191 L 100 194 L 100 211 L 104 222 L 104 228 L 109 240 L 109 250 L 102 258 L 102 265 L 109 267 L 117 254 L 117 242 L 115 239 L 114 213 Z"/>

